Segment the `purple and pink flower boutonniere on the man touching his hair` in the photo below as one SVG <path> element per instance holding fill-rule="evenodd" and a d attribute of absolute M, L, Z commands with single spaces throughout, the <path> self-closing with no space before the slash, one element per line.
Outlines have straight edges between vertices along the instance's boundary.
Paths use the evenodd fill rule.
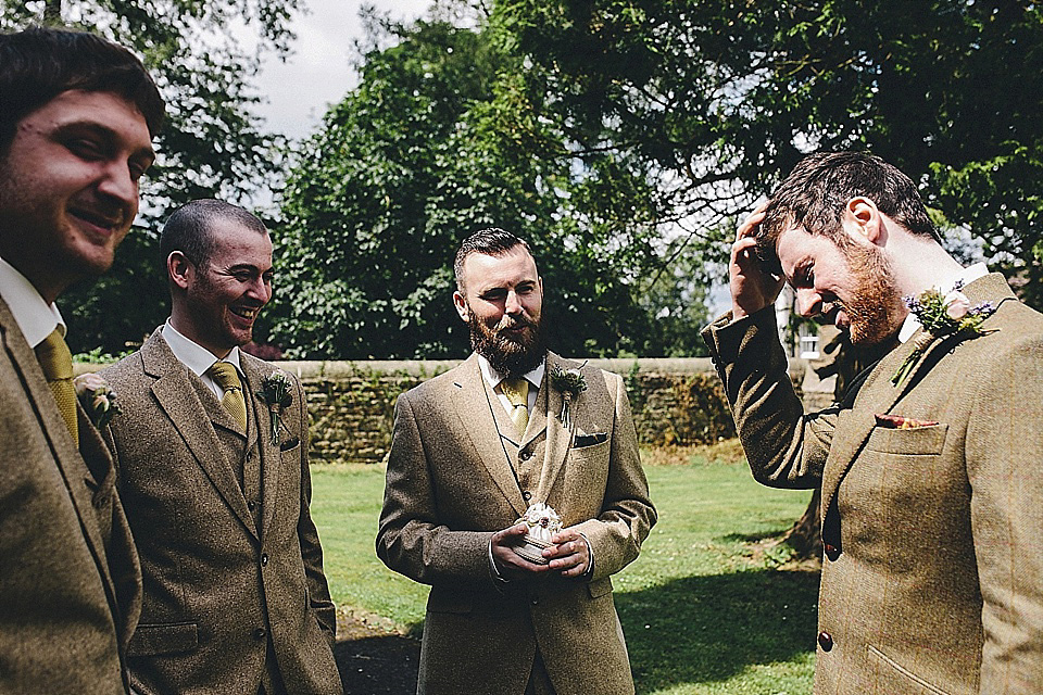
<path fill-rule="evenodd" d="M 996 311 L 996 307 L 989 302 L 971 306 L 967 295 L 960 292 L 963 288 L 964 283 L 957 282 L 948 294 L 942 294 L 932 288 L 921 292 L 919 296 L 905 298 L 905 304 L 920 320 L 925 332 L 916 339 L 913 352 L 891 377 L 892 384 L 902 386 L 914 365 L 935 340 L 950 337 L 977 338 L 994 332 L 982 330 L 981 324 Z"/>

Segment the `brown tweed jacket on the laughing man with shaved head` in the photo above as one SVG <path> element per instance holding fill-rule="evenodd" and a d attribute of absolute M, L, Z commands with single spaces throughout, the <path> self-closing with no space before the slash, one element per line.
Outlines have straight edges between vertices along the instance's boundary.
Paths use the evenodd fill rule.
<path fill-rule="evenodd" d="M 161 329 L 101 372 L 122 408 L 104 434 L 141 556 L 144 598 L 129 667 L 142 695 L 253 695 L 273 655 L 287 692 L 342 692 L 334 605 L 309 513 L 304 392 L 291 378 L 292 402 L 273 443 L 256 392 L 275 367 L 247 354 L 241 366 L 247 434 L 259 438 L 252 492 L 218 434 L 239 426 Z"/>

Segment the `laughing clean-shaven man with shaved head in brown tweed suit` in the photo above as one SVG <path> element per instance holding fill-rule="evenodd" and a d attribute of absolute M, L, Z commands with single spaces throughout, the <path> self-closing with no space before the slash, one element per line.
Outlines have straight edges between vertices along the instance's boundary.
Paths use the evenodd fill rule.
<path fill-rule="evenodd" d="M 287 375 L 288 403 L 260 396 L 275 367 L 240 351 L 272 296 L 267 230 L 241 207 L 194 201 L 160 248 L 171 317 L 102 371 L 122 402 L 105 435 L 144 581 L 134 688 L 341 693 L 304 391 Z"/>

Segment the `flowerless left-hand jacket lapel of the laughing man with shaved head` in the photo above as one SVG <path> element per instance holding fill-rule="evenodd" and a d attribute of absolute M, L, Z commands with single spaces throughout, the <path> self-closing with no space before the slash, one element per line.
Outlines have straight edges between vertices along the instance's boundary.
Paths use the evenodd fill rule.
<path fill-rule="evenodd" d="M 158 328 L 141 346 L 144 374 L 155 379 L 152 394 L 225 504 L 239 517 L 247 530 L 257 538 L 256 526 L 247 509 L 247 498 L 239 488 L 235 471 L 219 453 L 223 448 L 212 427 L 210 413 L 192 382 L 199 379 L 174 356 L 163 340 L 161 330 L 162 328 Z M 216 414 L 217 417 L 221 415 Z M 231 416 L 226 413 L 224 415 L 231 420 Z M 234 421 L 230 422 L 230 429 L 237 429 Z"/>

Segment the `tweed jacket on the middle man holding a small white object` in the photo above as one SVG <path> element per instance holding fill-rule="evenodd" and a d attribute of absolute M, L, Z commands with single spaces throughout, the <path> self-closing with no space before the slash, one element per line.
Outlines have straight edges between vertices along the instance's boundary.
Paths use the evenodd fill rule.
<path fill-rule="evenodd" d="M 583 367 L 575 432 L 562 425 L 554 354 L 518 440 L 477 355 L 395 404 L 377 555 L 431 585 L 418 693 L 522 695 L 537 647 L 558 695 L 633 692 L 610 576 L 655 522 L 623 380 Z M 501 437 L 503 433 L 503 437 Z M 546 502 L 590 542 L 582 579 L 497 580 L 489 541 Z"/>

